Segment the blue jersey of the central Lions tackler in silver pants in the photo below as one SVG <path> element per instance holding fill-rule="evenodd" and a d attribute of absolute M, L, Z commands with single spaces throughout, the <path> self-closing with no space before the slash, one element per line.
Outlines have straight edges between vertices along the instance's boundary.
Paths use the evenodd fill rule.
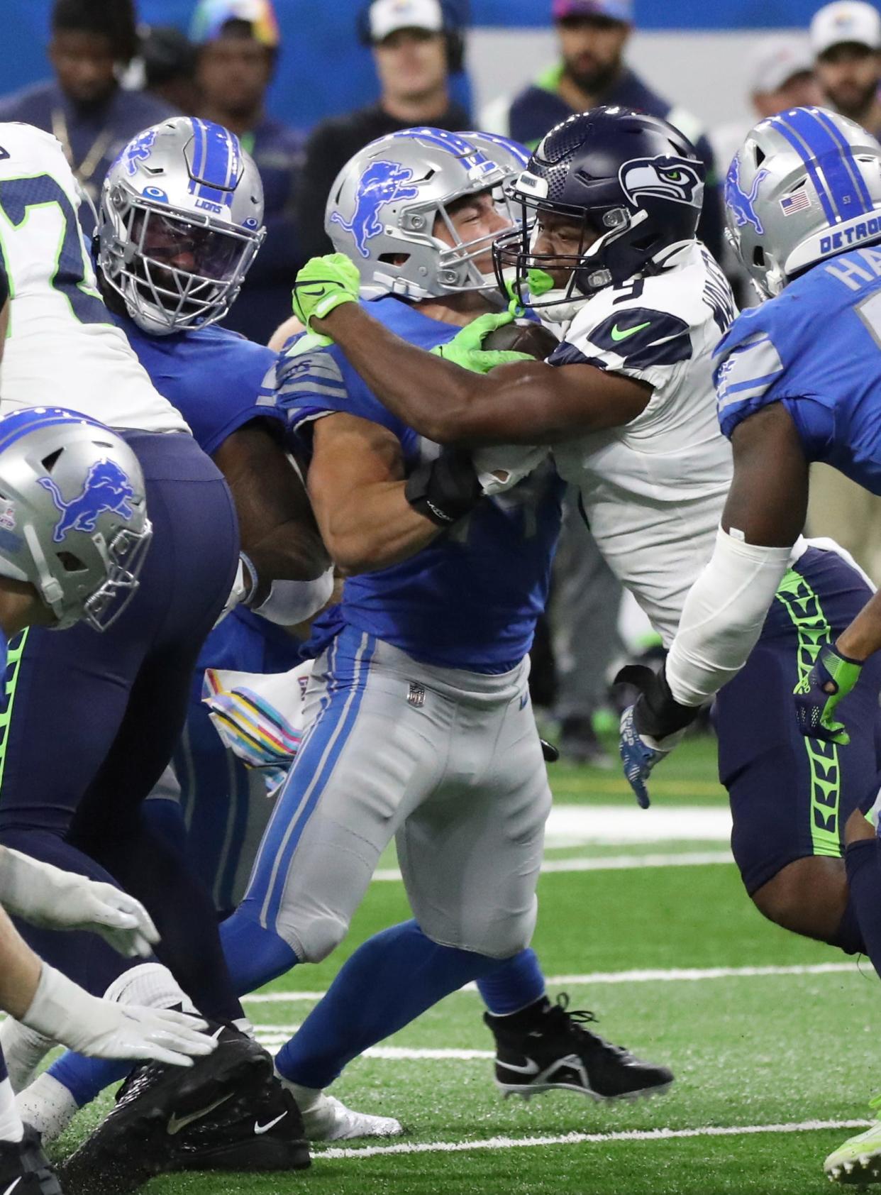
<path fill-rule="evenodd" d="M 400 299 L 369 306 L 386 327 L 423 349 L 458 331 Z M 279 405 L 301 435 L 312 421 L 344 411 L 388 428 L 407 472 L 437 455 L 438 446 L 390 415 L 335 347 L 294 356 L 281 375 Z M 424 663 L 482 673 L 513 668 L 532 644 L 548 595 L 561 495 L 559 478 L 541 471 L 480 502 L 408 560 L 347 578 L 341 605 L 316 624 L 314 650 L 347 624 Z"/>

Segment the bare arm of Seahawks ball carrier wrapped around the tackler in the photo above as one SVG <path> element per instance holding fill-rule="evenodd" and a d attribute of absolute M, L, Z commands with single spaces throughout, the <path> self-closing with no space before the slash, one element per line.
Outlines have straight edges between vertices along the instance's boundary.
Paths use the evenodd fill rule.
<path fill-rule="evenodd" d="M 382 403 L 436 443 L 553 445 L 621 427 L 648 405 L 646 382 L 591 364 L 506 364 L 488 374 L 418 349 L 353 302 L 310 326 L 333 341 Z"/>

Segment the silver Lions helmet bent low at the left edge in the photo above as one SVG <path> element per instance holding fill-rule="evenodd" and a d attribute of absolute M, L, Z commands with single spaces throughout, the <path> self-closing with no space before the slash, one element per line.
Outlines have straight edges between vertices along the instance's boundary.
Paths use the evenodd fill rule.
<path fill-rule="evenodd" d="M 30 582 L 56 627 L 110 626 L 150 535 L 141 466 L 116 433 L 60 407 L 0 418 L 0 577 Z"/>

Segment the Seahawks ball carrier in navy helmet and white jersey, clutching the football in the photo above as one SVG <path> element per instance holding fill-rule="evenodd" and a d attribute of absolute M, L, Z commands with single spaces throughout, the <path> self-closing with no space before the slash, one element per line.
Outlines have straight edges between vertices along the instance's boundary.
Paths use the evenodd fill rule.
<path fill-rule="evenodd" d="M 338 257 L 310 262 L 295 290 L 298 317 L 420 434 L 474 449 L 549 445 L 581 489 L 600 551 L 667 645 L 715 544 L 732 470 L 709 356 L 734 305 L 695 239 L 702 188 L 694 148 L 654 117 L 598 108 L 547 135 L 513 184 L 534 227 L 497 245 L 506 286 L 560 329 L 546 363 L 482 349 L 504 317 L 476 320 L 437 355 L 405 344 L 352 301 L 353 271 Z M 510 452 L 476 460 L 517 473 Z M 763 637 L 717 705 L 747 891 L 780 925 L 849 952 L 864 940 L 843 828 L 875 778 L 877 707 L 865 699 L 855 709 L 851 744 L 832 759 L 826 744 L 806 748 L 788 703 L 819 650 L 818 621 L 826 642 L 869 592 L 838 551 L 799 540 Z M 639 777 L 635 788 L 646 804 Z"/>

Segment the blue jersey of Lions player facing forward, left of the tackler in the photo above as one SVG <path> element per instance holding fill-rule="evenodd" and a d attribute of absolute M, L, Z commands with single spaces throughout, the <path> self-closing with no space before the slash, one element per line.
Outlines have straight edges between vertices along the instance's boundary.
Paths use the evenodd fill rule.
<path fill-rule="evenodd" d="M 276 354 L 226 327 L 149 336 L 116 317 L 159 393 L 177 406 L 210 456 L 252 419 L 279 419 Z"/>

